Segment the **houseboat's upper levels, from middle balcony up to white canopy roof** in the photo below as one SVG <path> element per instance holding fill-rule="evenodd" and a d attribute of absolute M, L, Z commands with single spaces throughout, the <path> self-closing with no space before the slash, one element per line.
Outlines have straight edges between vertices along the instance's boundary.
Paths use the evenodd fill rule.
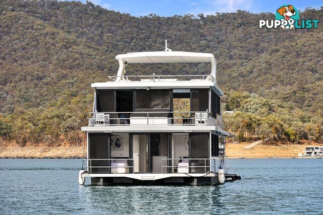
<path fill-rule="evenodd" d="M 223 127 L 220 96 L 224 93 L 217 86 L 217 61 L 213 54 L 135 52 L 119 54 L 116 59 L 119 61 L 117 76 L 91 85 L 95 89 L 92 117 L 82 130 L 219 131 Z M 126 67 L 131 63 L 210 63 L 211 69 L 207 75 L 126 76 Z"/>

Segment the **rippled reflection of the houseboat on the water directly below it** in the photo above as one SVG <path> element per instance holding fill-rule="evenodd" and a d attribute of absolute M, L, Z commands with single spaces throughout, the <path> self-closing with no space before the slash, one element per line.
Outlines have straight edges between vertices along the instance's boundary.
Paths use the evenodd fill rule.
<path fill-rule="evenodd" d="M 208 213 L 223 203 L 221 186 L 87 186 L 80 188 L 86 212 Z M 86 192 L 84 192 L 86 190 Z"/>

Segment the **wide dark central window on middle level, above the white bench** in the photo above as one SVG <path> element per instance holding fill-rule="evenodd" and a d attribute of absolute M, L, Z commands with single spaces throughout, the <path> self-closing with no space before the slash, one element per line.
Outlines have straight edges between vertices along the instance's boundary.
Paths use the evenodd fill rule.
<path fill-rule="evenodd" d="M 170 110 L 170 90 L 137 90 L 136 109 Z"/>

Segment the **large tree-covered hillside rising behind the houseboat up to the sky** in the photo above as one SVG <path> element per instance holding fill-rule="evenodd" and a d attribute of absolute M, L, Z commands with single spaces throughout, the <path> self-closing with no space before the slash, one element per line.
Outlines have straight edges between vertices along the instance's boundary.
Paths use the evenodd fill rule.
<path fill-rule="evenodd" d="M 313 123 L 321 132 L 322 25 L 315 30 L 258 29 L 259 19 L 274 18 L 273 13 L 245 11 L 138 18 L 92 3 L 1 0 L 0 135 L 21 144 L 54 144 L 62 138 L 80 144 L 79 129 L 92 103 L 90 83 L 116 75 L 117 54 L 164 50 L 165 39 L 173 50 L 216 56 L 218 85 L 225 93 L 234 90 L 224 101 L 238 98 L 237 92 L 260 95 L 255 103 L 279 101 L 291 112 L 306 113 L 302 123 Z M 323 20 L 323 8 L 307 9 L 300 19 Z M 128 75 L 152 73 L 208 74 L 209 68 L 170 64 L 127 70 Z M 233 104 L 226 109 L 243 108 Z M 291 125 L 284 126 L 286 133 Z"/>

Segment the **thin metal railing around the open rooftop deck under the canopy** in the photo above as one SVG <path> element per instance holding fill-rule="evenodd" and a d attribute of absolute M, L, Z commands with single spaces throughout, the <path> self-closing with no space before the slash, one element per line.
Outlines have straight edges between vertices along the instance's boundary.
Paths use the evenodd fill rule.
<path fill-rule="evenodd" d="M 212 81 L 215 82 L 216 79 L 212 75 L 148 75 L 148 76 L 108 76 L 111 82 L 121 78 L 121 81 L 152 81 L 160 82 L 169 79 L 176 79 L 176 81 Z M 129 78 L 133 80 L 129 80 Z M 189 79 L 194 78 L 194 79 Z M 142 80 L 144 79 L 144 80 Z"/>

